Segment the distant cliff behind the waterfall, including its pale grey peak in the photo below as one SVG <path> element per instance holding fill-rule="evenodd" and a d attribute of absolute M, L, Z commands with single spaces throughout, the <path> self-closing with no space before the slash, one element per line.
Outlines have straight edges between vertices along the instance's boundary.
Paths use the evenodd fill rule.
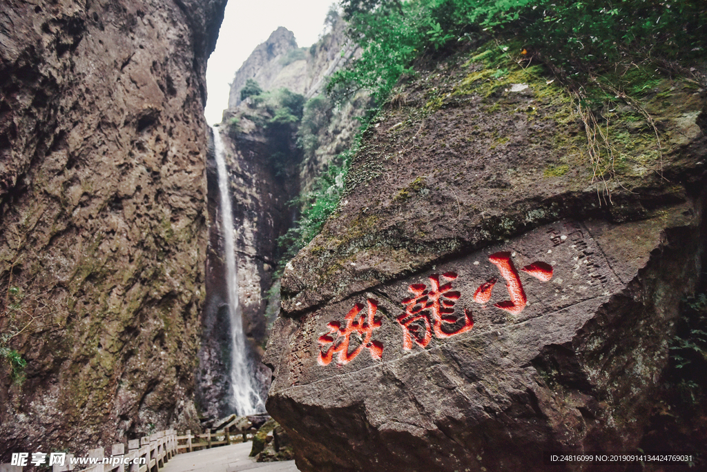
<path fill-rule="evenodd" d="M 274 124 L 271 121 L 276 111 L 272 108 L 281 106 L 275 103 L 277 90 L 286 88 L 311 97 L 323 89 L 328 76 L 346 64 L 354 49 L 346 43 L 345 27 L 343 20 L 335 20 L 332 30 L 308 51 L 298 49 L 293 33 L 285 28 L 274 31 L 235 73 L 229 107 L 220 126 L 233 196 L 243 326 L 250 367 L 262 385 L 263 398 L 270 384 L 270 372 L 261 359 L 279 309 L 279 288 L 273 288 L 281 252 L 278 237 L 298 216 L 298 208 L 289 202 L 307 191 L 322 169 L 349 148 L 358 129 L 355 118 L 363 113 L 367 99 L 360 95 L 356 102 L 335 109 L 327 99 L 317 98 L 322 116 L 310 136 L 315 142 L 305 152 L 298 145 L 301 124 Z M 293 52 L 296 54 L 291 57 Z M 271 94 L 241 101 L 240 88 L 249 78 L 259 82 L 265 95 Z M 229 323 L 223 285 L 223 237 L 218 226 L 221 209 L 215 172 L 211 165 L 209 214 L 216 225 L 211 228 L 209 240 L 208 299 L 197 374 L 199 406 L 211 419 L 232 412 L 228 405 L 230 336 L 226 329 Z"/>

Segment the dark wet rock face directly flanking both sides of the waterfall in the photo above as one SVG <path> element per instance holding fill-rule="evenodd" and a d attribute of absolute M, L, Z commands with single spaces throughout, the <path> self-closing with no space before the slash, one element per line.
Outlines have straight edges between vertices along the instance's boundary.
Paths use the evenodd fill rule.
<path fill-rule="evenodd" d="M 226 127 L 224 126 L 224 129 Z M 267 310 L 277 265 L 277 238 L 292 222 L 293 210 L 288 201 L 297 194 L 297 151 L 292 136 L 284 143 L 289 155 L 275 166 L 271 156 L 277 152 L 261 127 L 249 133 L 222 134 L 229 169 L 236 228 L 236 264 L 238 295 L 247 338 L 250 369 L 267 396 L 270 374 L 262 365 L 267 329 L 274 313 Z M 215 222 L 209 230 L 209 252 L 206 258 L 206 291 L 209 294 L 202 314 L 204 326 L 199 350 L 197 401 L 204 415 L 216 418 L 232 411 L 229 405 L 230 385 L 230 319 L 223 260 L 221 208 L 218 182 L 213 160 L 209 160 L 209 216 Z"/>

